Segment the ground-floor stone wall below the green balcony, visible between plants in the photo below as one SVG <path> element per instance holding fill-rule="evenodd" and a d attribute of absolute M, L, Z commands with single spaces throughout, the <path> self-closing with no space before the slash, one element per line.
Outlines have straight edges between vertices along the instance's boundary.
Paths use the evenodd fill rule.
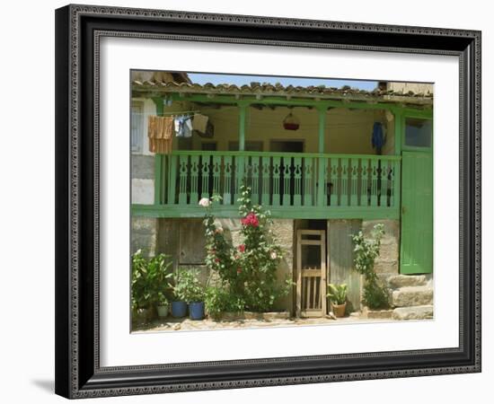
<path fill-rule="evenodd" d="M 217 224 L 225 230 L 225 235 L 235 246 L 242 242 L 241 224 L 238 218 L 218 218 Z M 399 274 L 400 262 L 400 222 L 398 220 L 364 220 L 361 228 L 369 235 L 375 224 L 384 224 L 384 238 L 381 243 L 381 254 L 375 261 L 375 270 L 382 277 L 390 277 Z M 359 221 L 330 220 L 328 221 L 330 233 L 328 233 L 329 251 L 329 279 L 333 283 L 345 282 L 348 287 L 355 290 L 351 294 L 352 307 L 358 310 L 359 299 L 357 294 L 360 281 L 352 269 L 351 246 L 341 247 L 341 242 L 348 238 L 348 232 L 357 232 L 360 228 Z M 287 277 L 295 280 L 294 253 L 296 250 L 294 240 L 294 225 L 292 219 L 273 219 L 271 230 L 275 234 L 278 244 L 283 251 L 283 259 L 278 268 L 280 282 Z M 357 227 L 356 227 L 357 226 Z M 331 231 L 331 229 L 333 229 Z M 339 239 L 339 240 L 337 240 Z M 336 243 L 335 243 L 336 241 Z M 173 268 L 198 268 L 203 283 L 207 282 L 209 274 L 204 265 L 205 237 L 201 218 L 190 219 L 154 219 L 147 217 L 132 218 L 131 252 L 142 249 L 146 256 L 153 256 L 160 252 L 172 256 Z M 348 244 L 348 243 L 346 243 Z M 346 251 L 346 252 L 345 252 Z M 345 253 L 345 257 L 341 254 Z M 356 294 L 357 290 L 357 294 Z M 274 306 L 275 311 L 288 310 L 293 313 L 295 299 L 294 293 L 279 299 Z"/>

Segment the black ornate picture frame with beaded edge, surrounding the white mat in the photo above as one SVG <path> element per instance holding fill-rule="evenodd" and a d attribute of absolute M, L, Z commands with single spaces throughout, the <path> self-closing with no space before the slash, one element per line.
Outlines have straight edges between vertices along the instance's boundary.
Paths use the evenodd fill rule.
<path fill-rule="evenodd" d="M 459 346 L 101 367 L 102 37 L 451 55 L 460 66 Z M 56 11 L 56 392 L 89 398 L 481 372 L 481 32 L 67 5 Z"/>

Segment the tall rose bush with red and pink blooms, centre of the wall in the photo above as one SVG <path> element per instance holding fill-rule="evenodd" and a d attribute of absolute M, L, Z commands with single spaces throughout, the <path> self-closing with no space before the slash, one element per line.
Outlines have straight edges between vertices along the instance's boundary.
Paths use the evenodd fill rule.
<path fill-rule="evenodd" d="M 202 199 L 199 202 L 207 208 L 204 219 L 207 268 L 219 275 L 223 291 L 211 293 L 207 302 L 221 302 L 225 308 L 234 306 L 236 311 L 267 312 L 279 297 L 288 294 L 293 285 L 288 279 L 283 285 L 279 285 L 277 280 L 276 273 L 283 256 L 269 230 L 269 212 L 264 211 L 262 206 L 252 205 L 251 189 L 241 188 L 238 201 L 243 242 L 235 248 L 225 239 L 223 229 L 215 224 L 212 206 L 219 199 L 216 196 L 207 199 L 207 202 Z M 229 294 L 228 299 L 225 298 L 225 291 Z M 219 311 L 217 305 L 207 305 L 207 308 L 216 315 Z"/>

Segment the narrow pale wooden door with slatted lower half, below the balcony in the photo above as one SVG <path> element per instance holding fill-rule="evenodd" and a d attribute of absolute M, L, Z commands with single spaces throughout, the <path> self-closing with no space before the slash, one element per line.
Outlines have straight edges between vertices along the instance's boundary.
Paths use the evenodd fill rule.
<path fill-rule="evenodd" d="M 326 232 L 296 231 L 296 315 L 326 315 Z"/>

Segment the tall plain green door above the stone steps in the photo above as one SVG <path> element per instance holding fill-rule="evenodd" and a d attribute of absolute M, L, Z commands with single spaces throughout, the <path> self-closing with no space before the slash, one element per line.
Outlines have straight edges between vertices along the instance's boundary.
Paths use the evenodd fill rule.
<path fill-rule="evenodd" d="M 432 272 L 432 154 L 402 152 L 401 274 Z"/>

